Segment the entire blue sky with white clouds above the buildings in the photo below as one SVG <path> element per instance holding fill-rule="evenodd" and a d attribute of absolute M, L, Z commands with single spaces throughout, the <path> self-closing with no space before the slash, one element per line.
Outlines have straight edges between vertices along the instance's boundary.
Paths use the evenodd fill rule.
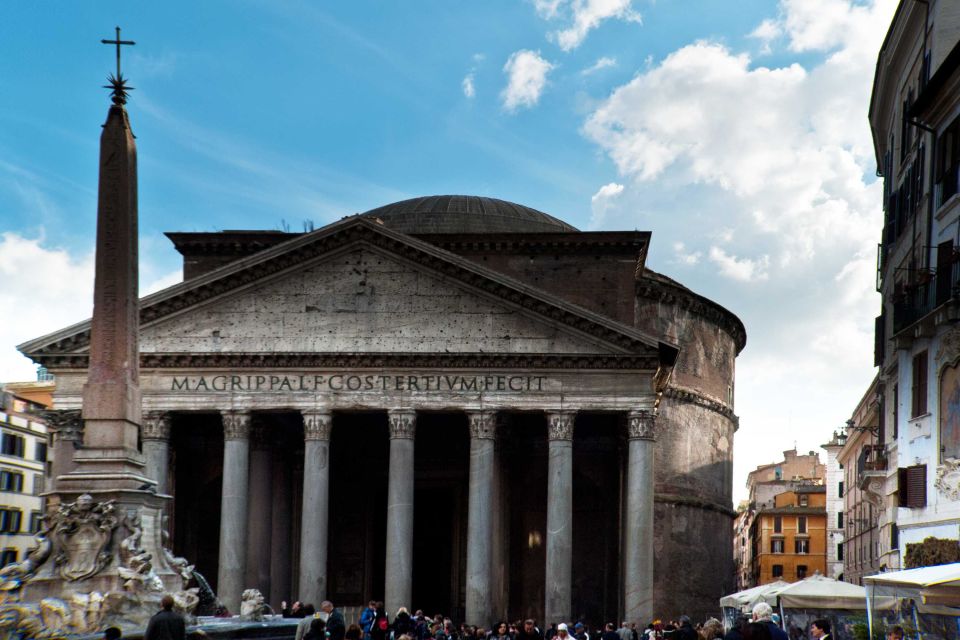
<path fill-rule="evenodd" d="M 733 8 L 735 6 L 735 9 Z M 0 22 L 0 379 L 87 317 L 113 27 L 164 231 L 300 230 L 468 193 L 653 232 L 650 266 L 737 313 L 735 490 L 812 449 L 873 376 L 866 120 L 892 0 L 15 3 Z M 89 283 L 88 283 L 89 280 Z"/>

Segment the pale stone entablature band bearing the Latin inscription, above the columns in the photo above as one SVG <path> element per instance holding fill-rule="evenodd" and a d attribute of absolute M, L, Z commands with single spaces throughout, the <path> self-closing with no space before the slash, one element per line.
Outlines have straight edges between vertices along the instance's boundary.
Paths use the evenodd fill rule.
<path fill-rule="evenodd" d="M 57 406 L 79 406 L 86 376 L 57 374 Z M 256 411 L 287 407 L 630 411 L 652 409 L 649 371 L 483 371 L 443 369 L 144 371 L 145 411 Z"/>

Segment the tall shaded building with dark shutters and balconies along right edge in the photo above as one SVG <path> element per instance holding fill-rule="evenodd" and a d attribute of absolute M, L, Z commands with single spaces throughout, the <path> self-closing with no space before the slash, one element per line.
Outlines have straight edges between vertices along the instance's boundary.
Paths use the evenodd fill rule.
<path fill-rule="evenodd" d="M 960 5 L 900 3 L 869 117 L 884 194 L 880 370 L 856 482 L 890 510 L 871 562 L 893 569 L 911 544 L 960 537 Z"/>

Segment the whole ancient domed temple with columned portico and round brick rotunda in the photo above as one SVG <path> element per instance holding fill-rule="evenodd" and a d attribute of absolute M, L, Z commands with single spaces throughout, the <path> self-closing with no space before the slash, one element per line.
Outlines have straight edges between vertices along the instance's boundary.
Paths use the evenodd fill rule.
<path fill-rule="evenodd" d="M 245 588 L 489 624 L 713 614 L 734 584 L 732 313 L 581 232 L 434 196 L 309 233 L 168 233 L 140 301 L 169 544 Z M 89 322 L 20 345 L 81 406 Z M 82 424 L 61 421 L 56 476 Z M 156 534 L 159 535 L 159 534 Z"/>

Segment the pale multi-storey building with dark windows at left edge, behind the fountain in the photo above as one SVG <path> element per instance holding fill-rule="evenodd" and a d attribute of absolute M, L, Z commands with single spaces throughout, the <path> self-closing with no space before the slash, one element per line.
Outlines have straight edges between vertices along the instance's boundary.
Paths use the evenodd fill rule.
<path fill-rule="evenodd" d="M 40 530 L 47 472 L 47 407 L 53 382 L 8 383 L 0 391 L 0 566 L 23 559 Z"/>

